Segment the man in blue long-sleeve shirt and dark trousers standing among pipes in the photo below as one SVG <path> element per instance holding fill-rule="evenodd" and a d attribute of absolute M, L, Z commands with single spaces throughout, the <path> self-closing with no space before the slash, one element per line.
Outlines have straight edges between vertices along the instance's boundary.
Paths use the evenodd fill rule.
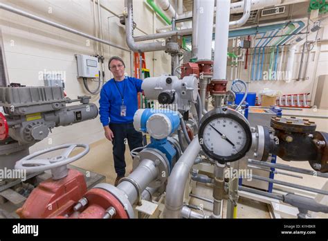
<path fill-rule="evenodd" d="M 125 64 L 118 56 L 108 62 L 114 78 L 109 80 L 100 91 L 100 121 L 104 135 L 113 143 L 114 167 L 117 174 L 115 186 L 125 176 L 125 144 L 133 150 L 143 146 L 143 136 L 134 130 L 134 114 L 138 109 L 138 92 L 142 80 L 125 76 Z"/>

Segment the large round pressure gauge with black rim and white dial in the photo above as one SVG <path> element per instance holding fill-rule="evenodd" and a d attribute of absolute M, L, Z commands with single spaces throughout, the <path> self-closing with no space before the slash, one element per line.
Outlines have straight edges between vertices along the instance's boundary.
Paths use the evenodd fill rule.
<path fill-rule="evenodd" d="M 208 111 L 201 118 L 198 136 L 205 154 L 220 163 L 241 159 L 252 144 L 248 120 L 226 107 Z"/>

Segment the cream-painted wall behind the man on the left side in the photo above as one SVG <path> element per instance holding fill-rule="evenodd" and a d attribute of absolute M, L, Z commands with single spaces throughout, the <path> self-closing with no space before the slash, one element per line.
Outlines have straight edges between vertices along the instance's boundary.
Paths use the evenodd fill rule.
<path fill-rule="evenodd" d="M 91 0 L 1 0 L 1 2 L 89 35 L 95 35 Z M 101 0 L 101 3 L 116 15 L 122 15 L 124 1 Z M 111 12 L 101 8 L 103 38 L 128 48 L 125 42 L 125 27 Z M 137 28 L 147 34 L 155 33 L 154 30 L 157 27 L 164 26 L 163 21 L 154 15 L 143 0 L 134 1 L 134 21 Z M 84 89 L 82 80 L 76 78 L 77 64 L 74 55 L 77 53 L 95 55 L 96 48 L 92 40 L 89 41 L 84 37 L 5 10 L 0 10 L 0 27 L 3 33 L 10 82 L 19 82 L 27 86 L 44 85 L 44 80 L 38 78 L 40 71 L 64 71 L 66 75 L 65 91 L 70 98 L 89 95 Z M 144 35 L 144 33 L 136 29 L 135 35 Z M 104 45 L 105 66 L 108 66 L 109 57 L 112 55 L 122 57 L 127 66 L 126 71 L 130 73 L 129 53 Z M 147 53 L 146 63 L 152 76 L 170 71 L 170 56 L 163 51 Z M 112 78 L 108 69 L 105 73 L 107 80 Z M 91 89 L 95 86 L 95 83 L 90 84 Z M 98 105 L 98 100 L 99 96 L 91 98 L 91 102 L 96 105 Z M 90 144 L 103 138 L 102 125 L 98 116 L 94 120 L 70 127 L 53 129 L 53 133 L 48 136 L 48 139 L 33 145 L 31 151 L 63 143 Z"/>

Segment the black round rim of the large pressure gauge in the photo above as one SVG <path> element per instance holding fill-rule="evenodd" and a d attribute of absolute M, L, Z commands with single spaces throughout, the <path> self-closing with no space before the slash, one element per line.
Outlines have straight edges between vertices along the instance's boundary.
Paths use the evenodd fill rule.
<path fill-rule="evenodd" d="M 211 150 L 209 150 L 205 143 L 203 142 L 203 132 L 205 130 L 205 127 L 210 123 L 212 120 L 215 120 L 217 118 L 231 118 L 239 125 L 242 125 L 244 128 L 244 131 L 246 133 L 246 144 L 242 150 L 240 150 L 237 154 L 233 154 L 232 156 L 225 157 L 225 156 L 220 156 L 218 154 L 215 154 Z M 233 109 L 228 109 L 228 108 L 218 108 L 218 109 L 213 109 L 212 111 L 208 111 L 203 118 L 201 119 L 200 127 L 199 127 L 199 144 L 201 145 L 201 148 L 203 149 L 203 152 L 210 157 L 211 159 L 215 161 L 219 161 L 220 163 L 226 163 L 226 162 L 231 162 L 231 161 L 237 161 L 239 159 L 242 159 L 246 153 L 250 150 L 250 146 L 252 145 L 252 133 L 250 132 L 250 127 L 248 124 L 247 119 L 242 116 L 239 112 L 233 110 Z"/>

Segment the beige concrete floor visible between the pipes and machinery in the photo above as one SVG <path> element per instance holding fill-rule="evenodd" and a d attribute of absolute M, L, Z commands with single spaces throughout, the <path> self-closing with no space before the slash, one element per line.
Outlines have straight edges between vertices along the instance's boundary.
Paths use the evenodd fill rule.
<path fill-rule="evenodd" d="M 302 109 L 302 110 L 283 110 L 284 115 L 286 114 L 311 114 L 315 116 L 328 116 L 327 109 Z M 320 118 L 309 118 L 316 122 L 317 130 L 328 132 L 328 119 Z M 126 175 L 129 175 L 129 172 L 132 170 L 132 159 L 129 155 L 129 148 L 126 148 L 125 159 L 127 163 Z M 277 159 L 278 163 L 287 164 L 289 166 L 294 166 L 298 168 L 306 168 L 311 170 L 309 163 L 307 161 L 298 162 L 291 161 L 286 162 L 282 161 L 280 158 Z M 107 139 L 102 139 L 90 145 L 90 152 L 86 154 L 82 159 L 72 163 L 74 166 L 78 166 L 85 170 L 90 170 L 92 172 L 97 172 L 101 175 L 104 175 L 107 179 L 107 183 L 113 184 L 116 179 L 116 173 L 113 167 L 113 154 L 112 154 L 112 144 Z M 284 171 L 287 172 L 287 171 Z M 313 188 L 322 188 L 322 186 L 327 181 L 324 178 L 320 177 L 311 177 L 309 175 L 298 174 L 302 178 L 289 177 L 286 175 L 275 175 L 275 179 L 282 181 L 289 181 L 293 184 L 300 184 L 304 186 L 309 186 Z M 200 195 L 202 197 L 207 197 L 212 199 L 212 188 L 203 185 L 197 184 L 197 188 L 193 191 L 194 194 Z M 209 211 L 212 209 L 212 204 L 208 202 L 203 202 L 199 199 L 191 197 L 190 203 L 192 204 L 203 204 L 204 211 L 206 214 L 210 214 Z M 224 217 L 226 217 L 226 203 L 224 202 Z M 327 203 L 328 205 L 328 203 Z M 238 211 L 237 217 L 239 218 L 270 218 L 268 213 L 268 206 L 262 202 L 257 202 L 254 200 L 246 199 L 243 197 L 239 198 L 238 202 Z M 328 216 L 327 216 L 328 217 Z"/>

